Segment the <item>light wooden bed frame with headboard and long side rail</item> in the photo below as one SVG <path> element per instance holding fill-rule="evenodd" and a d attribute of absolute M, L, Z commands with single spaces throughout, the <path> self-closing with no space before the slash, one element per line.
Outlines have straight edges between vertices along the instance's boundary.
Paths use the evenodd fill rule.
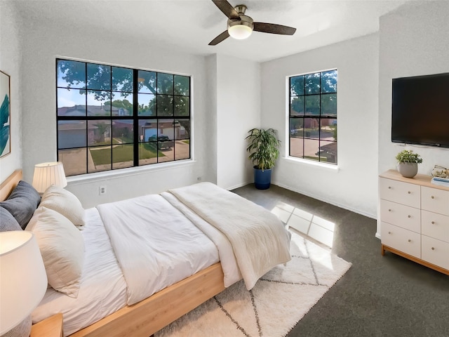
<path fill-rule="evenodd" d="M 16 170 L 0 185 L 4 200 L 22 179 Z M 148 337 L 225 289 L 220 263 L 187 277 L 134 305 L 128 305 L 71 337 Z"/>

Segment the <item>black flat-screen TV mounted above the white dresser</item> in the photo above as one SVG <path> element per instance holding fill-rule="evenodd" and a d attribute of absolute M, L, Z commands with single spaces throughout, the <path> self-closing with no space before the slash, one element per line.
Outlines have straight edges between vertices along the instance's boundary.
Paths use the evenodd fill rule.
<path fill-rule="evenodd" d="M 449 73 L 393 79 L 391 141 L 449 147 Z"/>

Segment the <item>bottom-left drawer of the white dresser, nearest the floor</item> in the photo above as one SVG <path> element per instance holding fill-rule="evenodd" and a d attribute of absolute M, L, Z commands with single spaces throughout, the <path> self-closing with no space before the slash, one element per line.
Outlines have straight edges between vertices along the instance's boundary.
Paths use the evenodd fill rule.
<path fill-rule="evenodd" d="M 389 223 L 382 222 L 380 225 L 382 244 L 415 256 L 415 258 L 421 258 L 420 234 Z"/>

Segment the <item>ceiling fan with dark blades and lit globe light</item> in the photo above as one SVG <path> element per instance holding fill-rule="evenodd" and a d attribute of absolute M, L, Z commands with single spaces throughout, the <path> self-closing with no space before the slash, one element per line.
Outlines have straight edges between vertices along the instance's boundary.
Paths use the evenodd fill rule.
<path fill-rule="evenodd" d="M 296 32 L 296 28 L 276 25 L 274 23 L 254 22 L 252 18 L 245 15 L 247 7 L 245 5 L 238 5 L 235 8 L 227 0 L 212 0 L 220 11 L 227 16 L 227 30 L 222 32 L 210 41 L 209 46 L 215 46 L 220 44 L 228 37 L 234 37 L 234 39 L 246 39 L 253 30 L 262 33 L 293 35 Z"/>

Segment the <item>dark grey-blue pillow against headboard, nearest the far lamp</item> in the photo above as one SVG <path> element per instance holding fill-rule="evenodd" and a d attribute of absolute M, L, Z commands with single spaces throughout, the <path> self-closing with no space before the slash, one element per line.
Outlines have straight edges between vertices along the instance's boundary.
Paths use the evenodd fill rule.
<path fill-rule="evenodd" d="M 23 229 L 27 227 L 27 223 L 40 201 L 41 196 L 34 187 L 26 181 L 20 180 L 8 199 L 0 202 L 0 206 L 11 213 Z"/>

